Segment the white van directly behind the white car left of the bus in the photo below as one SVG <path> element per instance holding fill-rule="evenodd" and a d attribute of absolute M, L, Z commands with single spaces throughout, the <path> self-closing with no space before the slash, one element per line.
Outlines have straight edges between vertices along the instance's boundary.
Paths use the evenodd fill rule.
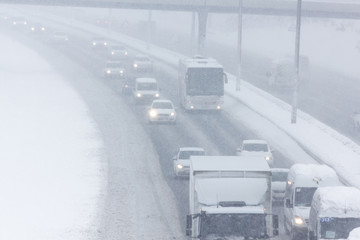
<path fill-rule="evenodd" d="M 133 90 L 134 103 L 151 102 L 160 97 L 160 90 L 155 78 L 141 77 L 135 79 Z"/>

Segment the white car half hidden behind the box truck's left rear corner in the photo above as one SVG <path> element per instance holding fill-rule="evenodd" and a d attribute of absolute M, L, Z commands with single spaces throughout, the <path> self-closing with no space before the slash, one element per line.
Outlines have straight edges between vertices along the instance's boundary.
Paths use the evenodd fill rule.
<path fill-rule="evenodd" d="M 205 150 L 199 147 L 182 147 L 172 158 L 174 164 L 174 173 L 176 176 L 189 176 L 190 156 L 205 155 Z"/>

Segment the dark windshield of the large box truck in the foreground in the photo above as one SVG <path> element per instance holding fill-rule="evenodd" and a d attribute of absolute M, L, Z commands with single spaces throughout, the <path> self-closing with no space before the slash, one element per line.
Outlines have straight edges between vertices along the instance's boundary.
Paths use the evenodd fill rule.
<path fill-rule="evenodd" d="M 205 214 L 201 216 L 200 234 L 202 238 L 208 235 L 264 238 L 265 215 Z"/>

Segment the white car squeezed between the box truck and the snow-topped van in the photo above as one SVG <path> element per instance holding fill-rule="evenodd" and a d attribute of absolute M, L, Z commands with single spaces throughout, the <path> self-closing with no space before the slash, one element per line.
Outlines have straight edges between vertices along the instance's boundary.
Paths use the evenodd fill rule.
<path fill-rule="evenodd" d="M 289 169 L 287 168 L 271 168 L 271 190 L 273 202 L 284 201 L 288 172 Z"/>

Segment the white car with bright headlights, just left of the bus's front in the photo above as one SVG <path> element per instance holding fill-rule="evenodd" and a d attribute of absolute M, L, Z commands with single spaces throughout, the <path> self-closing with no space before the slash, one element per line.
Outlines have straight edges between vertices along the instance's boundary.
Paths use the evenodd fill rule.
<path fill-rule="evenodd" d="M 157 99 L 151 103 L 148 110 L 148 121 L 176 123 L 174 104 L 170 100 Z"/>

